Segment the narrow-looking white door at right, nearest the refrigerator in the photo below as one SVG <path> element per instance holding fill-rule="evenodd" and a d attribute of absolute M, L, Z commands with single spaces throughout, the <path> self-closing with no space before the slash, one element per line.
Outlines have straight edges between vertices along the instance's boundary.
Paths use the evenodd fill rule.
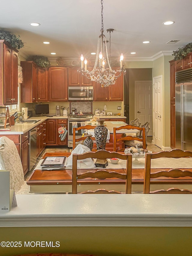
<path fill-rule="evenodd" d="M 154 144 L 162 148 L 162 76 L 153 77 Z"/>

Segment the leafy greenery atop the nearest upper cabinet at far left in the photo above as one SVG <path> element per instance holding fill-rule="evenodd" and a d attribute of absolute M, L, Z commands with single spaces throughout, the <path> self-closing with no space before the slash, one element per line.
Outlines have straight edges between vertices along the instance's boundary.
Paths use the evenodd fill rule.
<path fill-rule="evenodd" d="M 4 29 L 0 29 L 0 39 L 4 39 L 8 43 L 10 43 L 11 47 L 17 50 L 24 46 L 19 35 L 16 36 L 15 34 L 11 34 L 9 31 L 6 31 Z"/>

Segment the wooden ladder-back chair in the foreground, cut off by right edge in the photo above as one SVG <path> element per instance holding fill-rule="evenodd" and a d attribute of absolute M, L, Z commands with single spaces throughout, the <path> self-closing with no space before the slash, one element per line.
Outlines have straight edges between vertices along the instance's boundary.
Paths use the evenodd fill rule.
<path fill-rule="evenodd" d="M 144 194 L 192 194 L 192 191 L 179 188 L 169 188 L 167 190 L 160 189 L 155 191 L 150 191 L 150 180 L 158 177 L 170 177 L 170 178 L 179 178 L 179 177 L 192 177 L 192 171 L 189 170 L 180 170 L 180 169 L 170 169 L 170 170 L 161 170 L 155 173 L 151 173 L 151 159 L 156 159 L 160 157 L 167 158 L 181 158 L 181 157 L 192 157 L 192 152 L 183 151 L 180 149 L 172 149 L 170 151 L 162 151 L 158 153 L 146 153 L 145 158 L 145 173 L 144 173 Z"/>

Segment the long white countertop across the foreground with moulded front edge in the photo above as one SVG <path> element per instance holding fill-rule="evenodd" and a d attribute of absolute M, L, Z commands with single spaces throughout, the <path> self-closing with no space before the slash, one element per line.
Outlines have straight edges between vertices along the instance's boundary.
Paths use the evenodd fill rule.
<path fill-rule="evenodd" d="M 192 226 L 192 196 L 181 194 L 16 195 L 0 227 Z"/>

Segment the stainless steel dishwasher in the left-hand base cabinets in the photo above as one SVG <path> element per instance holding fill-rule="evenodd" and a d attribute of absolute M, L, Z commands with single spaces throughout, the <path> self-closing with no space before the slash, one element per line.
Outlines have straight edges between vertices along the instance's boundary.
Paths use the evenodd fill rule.
<path fill-rule="evenodd" d="M 29 131 L 30 135 L 30 148 L 29 148 L 29 170 L 35 165 L 38 154 L 38 145 L 37 145 L 37 127 Z"/>

